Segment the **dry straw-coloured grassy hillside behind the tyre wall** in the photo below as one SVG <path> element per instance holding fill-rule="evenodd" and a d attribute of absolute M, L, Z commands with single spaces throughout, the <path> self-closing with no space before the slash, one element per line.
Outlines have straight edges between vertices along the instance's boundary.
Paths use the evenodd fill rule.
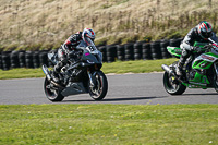
<path fill-rule="evenodd" d="M 0 47 L 56 48 L 84 27 L 96 32 L 98 45 L 181 37 L 202 20 L 217 29 L 217 4 L 218 0 L 1 0 Z"/>

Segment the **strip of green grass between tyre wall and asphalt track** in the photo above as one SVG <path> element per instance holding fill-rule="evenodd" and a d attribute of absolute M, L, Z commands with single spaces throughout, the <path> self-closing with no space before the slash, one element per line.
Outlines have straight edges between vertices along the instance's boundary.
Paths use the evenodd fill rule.
<path fill-rule="evenodd" d="M 161 60 L 137 60 L 137 61 L 117 61 L 112 63 L 104 63 L 104 73 L 149 73 L 161 72 L 161 64 L 170 64 L 177 59 Z M 12 69 L 8 71 L 0 70 L 0 80 L 7 78 L 27 78 L 27 77 L 44 77 L 43 70 L 39 69 Z"/>

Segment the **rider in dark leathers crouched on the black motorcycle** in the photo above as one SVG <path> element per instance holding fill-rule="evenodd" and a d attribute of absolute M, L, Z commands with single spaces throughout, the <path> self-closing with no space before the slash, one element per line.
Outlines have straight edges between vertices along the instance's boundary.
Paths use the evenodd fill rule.
<path fill-rule="evenodd" d="M 68 59 L 74 56 L 77 51 L 76 46 L 82 41 L 86 41 L 89 38 L 93 43 L 95 40 L 95 32 L 90 28 L 84 28 L 83 32 L 77 32 L 71 35 L 65 43 L 58 49 L 58 63 L 53 68 L 53 81 L 59 83 L 59 73 L 61 69 L 66 64 Z"/>

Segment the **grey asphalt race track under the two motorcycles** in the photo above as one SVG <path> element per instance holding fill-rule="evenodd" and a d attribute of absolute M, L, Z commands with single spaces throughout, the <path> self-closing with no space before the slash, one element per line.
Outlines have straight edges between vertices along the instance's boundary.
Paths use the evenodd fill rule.
<path fill-rule="evenodd" d="M 43 90 L 44 78 L 0 81 L 0 105 L 29 104 L 218 104 L 218 94 L 213 89 L 186 89 L 183 95 L 170 96 L 162 86 L 162 73 L 107 75 L 109 89 L 101 101 L 88 94 L 69 96 L 61 102 L 49 101 Z"/>

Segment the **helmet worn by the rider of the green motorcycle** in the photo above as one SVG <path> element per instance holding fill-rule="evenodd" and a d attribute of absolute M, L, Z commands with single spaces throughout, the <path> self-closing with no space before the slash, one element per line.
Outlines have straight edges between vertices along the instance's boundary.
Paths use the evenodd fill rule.
<path fill-rule="evenodd" d="M 207 39 L 211 36 L 211 24 L 203 21 L 197 26 L 197 32 L 203 39 Z"/>

